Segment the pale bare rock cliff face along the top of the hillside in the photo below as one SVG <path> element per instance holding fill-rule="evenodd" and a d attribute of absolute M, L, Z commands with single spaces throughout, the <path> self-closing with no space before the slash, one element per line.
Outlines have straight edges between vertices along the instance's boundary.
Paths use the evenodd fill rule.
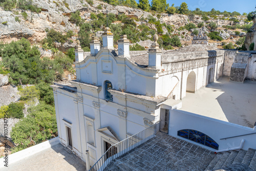
<path fill-rule="evenodd" d="M 63 4 L 63 2 L 55 2 L 52 0 L 34 0 L 33 3 L 41 8 L 41 12 L 37 14 L 31 11 L 26 11 L 28 14 L 27 19 L 24 19 L 21 10 L 16 9 L 13 11 L 4 11 L 3 8 L 0 8 L 0 23 L 8 22 L 7 25 L 0 24 L 0 38 L 2 41 L 10 42 L 12 40 L 25 37 L 31 42 L 36 43 L 46 37 L 46 28 L 53 28 L 59 32 L 67 32 L 68 30 L 73 30 L 75 33 L 77 33 L 79 28 L 75 24 L 72 24 L 69 20 L 71 13 L 77 10 L 80 10 L 81 17 L 86 19 L 86 21 L 91 20 L 91 12 L 96 14 L 102 12 L 103 14 L 106 14 L 106 9 L 108 9 L 110 13 L 114 13 L 116 15 L 125 14 L 129 17 L 136 18 L 140 18 L 142 16 L 147 18 L 148 15 L 154 15 L 150 12 L 145 12 L 140 9 L 133 9 L 125 6 L 112 6 L 101 1 L 94 1 L 92 6 L 90 6 L 86 1 L 76 0 L 69 0 L 67 1 L 68 4 L 66 5 Z M 101 5 L 102 9 L 97 8 L 99 5 Z M 18 17 L 20 22 L 15 20 L 15 17 Z M 154 17 L 157 18 L 156 16 Z M 188 24 L 188 19 L 195 24 L 204 22 L 202 17 L 198 15 L 188 18 L 187 15 L 170 15 L 163 13 L 159 19 L 161 23 L 172 25 L 176 29 Z M 233 24 L 229 20 L 216 20 L 214 18 L 210 18 L 210 20 L 205 23 L 210 23 L 211 21 L 217 22 L 219 27 Z M 139 25 L 140 23 L 137 22 L 137 24 Z M 240 24 L 244 23 L 241 22 Z M 164 28 L 163 30 L 165 31 L 166 29 Z M 167 32 L 167 30 L 165 32 Z M 184 41 L 190 40 L 188 37 L 183 39 Z M 70 45 L 66 46 L 70 47 Z"/>

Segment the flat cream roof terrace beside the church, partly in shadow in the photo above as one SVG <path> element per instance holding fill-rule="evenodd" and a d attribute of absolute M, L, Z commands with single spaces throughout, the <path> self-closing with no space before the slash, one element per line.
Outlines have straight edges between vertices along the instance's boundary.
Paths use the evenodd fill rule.
<path fill-rule="evenodd" d="M 221 77 L 196 93 L 186 93 L 182 111 L 253 127 L 256 122 L 256 82 L 230 82 Z"/>

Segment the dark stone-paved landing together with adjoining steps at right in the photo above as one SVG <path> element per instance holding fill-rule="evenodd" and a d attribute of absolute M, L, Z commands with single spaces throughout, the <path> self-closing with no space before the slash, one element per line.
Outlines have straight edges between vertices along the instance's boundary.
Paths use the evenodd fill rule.
<path fill-rule="evenodd" d="M 256 150 L 215 154 L 163 133 L 115 159 L 104 171 L 256 171 Z"/>

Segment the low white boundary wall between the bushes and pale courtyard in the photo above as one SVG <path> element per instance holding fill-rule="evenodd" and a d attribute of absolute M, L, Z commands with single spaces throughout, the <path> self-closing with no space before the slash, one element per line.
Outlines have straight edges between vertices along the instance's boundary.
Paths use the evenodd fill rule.
<path fill-rule="evenodd" d="M 26 157 L 32 156 L 32 155 L 34 155 L 38 152 L 41 152 L 47 148 L 50 148 L 51 146 L 54 146 L 58 143 L 59 143 L 59 137 L 56 137 L 56 138 L 50 139 L 48 141 L 42 142 L 40 144 L 31 146 L 29 148 L 23 149 L 22 151 L 8 155 L 8 166 L 16 161 L 23 160 Z M 0 170 L 1 170 L 1 168 L 5 167 L 3 164 L 5 161 L 6 160 L 4 157 L 0 159 L 0 163 L 1 163 Z"/>

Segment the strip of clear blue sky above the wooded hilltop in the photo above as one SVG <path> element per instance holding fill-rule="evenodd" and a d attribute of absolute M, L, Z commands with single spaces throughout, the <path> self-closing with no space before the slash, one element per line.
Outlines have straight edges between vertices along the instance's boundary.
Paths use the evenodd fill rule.
<path fill-rule="evenodd" d="M 151 3 L 151 0 L 149 0 Z M 200 8 L 202 11 L 210 11 L 212 8 L 215 10 L 233 12 L 237 11 L 241 14 L 243 12 L 249 13 L 255 10 L 255 0 L 166 0 L 171 6 L 180 6 L 181 3 L 185 2 L 188 5 L 189 10 L 195 10 Z"/>

